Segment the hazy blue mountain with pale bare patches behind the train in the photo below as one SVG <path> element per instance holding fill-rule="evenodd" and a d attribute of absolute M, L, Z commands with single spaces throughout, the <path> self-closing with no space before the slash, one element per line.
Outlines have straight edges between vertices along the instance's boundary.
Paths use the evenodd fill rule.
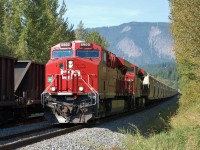
<path fill-rule="evenodd" d="M 174 61 L 168 23 L 130 22 L 87 30 L 104 35 L 111 52 L 136 65 Z"/>

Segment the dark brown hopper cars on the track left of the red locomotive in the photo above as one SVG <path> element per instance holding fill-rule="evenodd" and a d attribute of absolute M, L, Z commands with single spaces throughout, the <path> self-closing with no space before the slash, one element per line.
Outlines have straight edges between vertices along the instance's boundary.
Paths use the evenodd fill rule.
<path fill-rule="evenodd" d="M 0 56 L 0 124 L 41 115 L 45 64 Z"/>

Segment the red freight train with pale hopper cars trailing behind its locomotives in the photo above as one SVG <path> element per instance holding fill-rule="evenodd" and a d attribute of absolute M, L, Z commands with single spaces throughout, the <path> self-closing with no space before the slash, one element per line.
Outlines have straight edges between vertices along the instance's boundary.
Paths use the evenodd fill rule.
<path fill-rule="evenodd" d="M 87 123 L 177 94 L 95 43 L 53 46 L 45 72 L 41 100 L 51 123 Z"/>

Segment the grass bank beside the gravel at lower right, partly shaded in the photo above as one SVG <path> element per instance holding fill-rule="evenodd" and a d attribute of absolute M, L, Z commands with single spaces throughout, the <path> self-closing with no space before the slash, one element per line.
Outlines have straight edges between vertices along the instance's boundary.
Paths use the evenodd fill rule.
<path fill-rule="evenodd" d="M 187 110 L 172 106 L 160 113 L 140 131 L 127 133 L 123 141 L 129 150 L 198 150 L 200 148 L 200 103 Z M 114 148 L 115 149 L 115 148 Z"/>

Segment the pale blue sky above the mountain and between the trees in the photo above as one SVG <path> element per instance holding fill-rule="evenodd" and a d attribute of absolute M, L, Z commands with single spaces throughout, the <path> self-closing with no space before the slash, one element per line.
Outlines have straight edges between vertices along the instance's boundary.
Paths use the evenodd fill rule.
<path fill-rule="evenodd" d="M 60 2 L 62 0 L 59 0 Z M 118 26 L 128 22 L 169 22 L 168 0 L 64 0 L 64 18 L 84 28 Z"/>

